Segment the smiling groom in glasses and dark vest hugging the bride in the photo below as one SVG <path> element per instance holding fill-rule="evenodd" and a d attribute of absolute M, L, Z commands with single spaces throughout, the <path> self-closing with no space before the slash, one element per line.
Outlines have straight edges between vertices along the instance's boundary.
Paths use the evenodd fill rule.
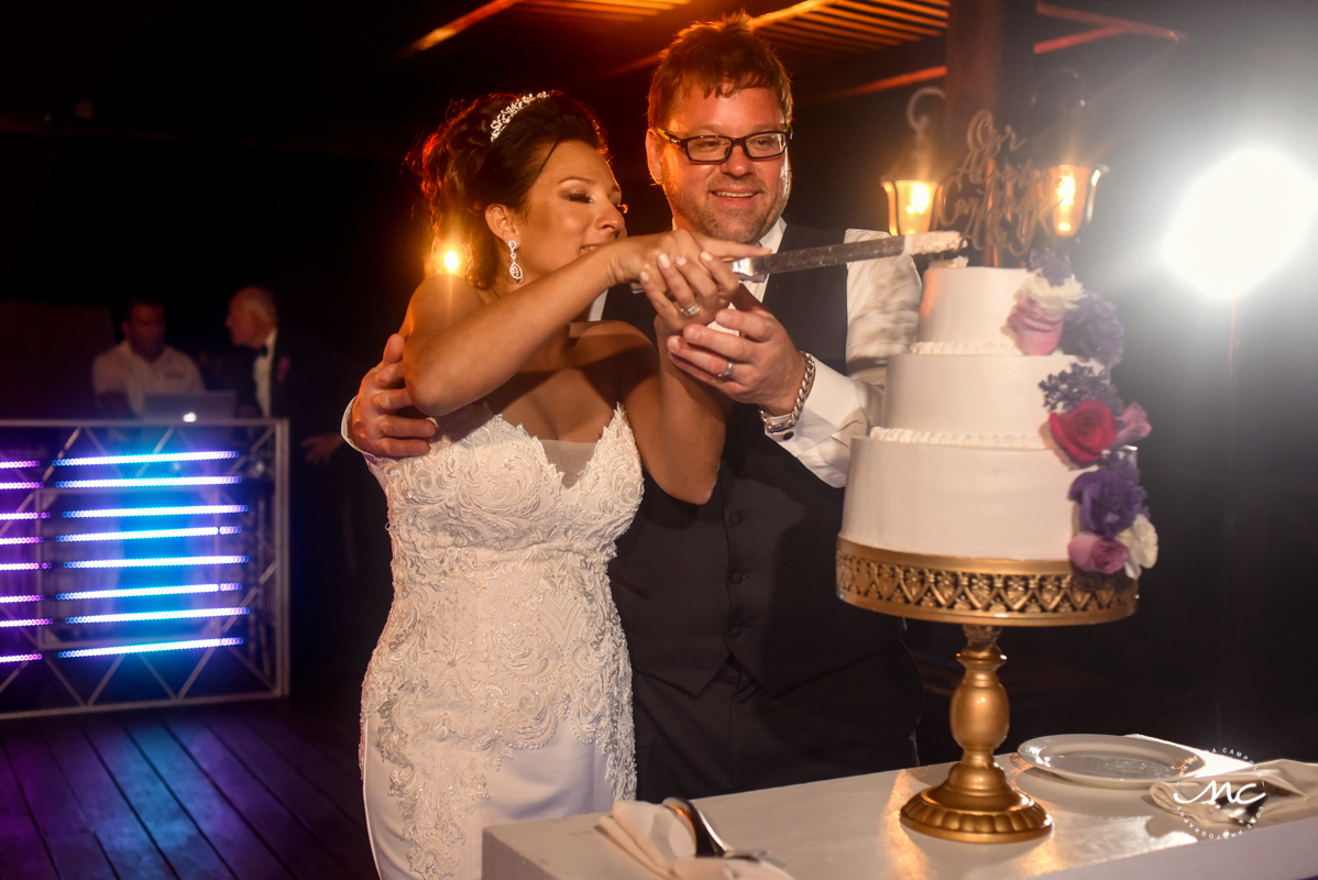
<path fill-rule="evenodd" d="M 673 225 L 774 250 L 874 233 L 784 224 L 787 74 L 745 14 L 684 30 L 650 87 L 646 158 Z M 647 478 L 610 566 L 634 671 L 638 797 L 705 797 L 916 763 L 923 688 L 904 624 L 836 597 L 834 541 L 853 437 L 876 423 L 888 354 L 915 331 L 909 258 L 747 283 L 726 329 L 689 327 L 671 353 L 737 402 L 713 498 Z M 754 298 L 754 299 L 753 299 Z M 755 300 L 762 300 L 755 302 Z M 648 302 L 612 291 L 604 317 L 652 332 Z M 353 403 L 356 445 L 415 454 L 395 361 Z"/>

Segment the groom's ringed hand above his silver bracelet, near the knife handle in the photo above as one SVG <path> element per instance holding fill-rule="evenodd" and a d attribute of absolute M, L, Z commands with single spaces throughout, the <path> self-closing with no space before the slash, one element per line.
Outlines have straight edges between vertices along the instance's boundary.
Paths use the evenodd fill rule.
<path fill-rule="evenodd" d="M 762 406 L 770 415 L 791 412 L 805 375 L 805 357 L 779 320 L 745 287 L 733 295 L 731 304 L 735 311 L 725 308 L 714 320 L 737 331 L 735 336 L 688 324 L 681 336 L 668 337 L 668 354 L 680 370 L 738 403 Z M 731 374 L 725 375 L 729 364 Z"/>

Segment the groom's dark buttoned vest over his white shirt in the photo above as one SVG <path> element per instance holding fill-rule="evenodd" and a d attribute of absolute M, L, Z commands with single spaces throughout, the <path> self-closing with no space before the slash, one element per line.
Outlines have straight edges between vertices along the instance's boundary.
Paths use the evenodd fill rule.
<path fill-rule="evenodd" d="M 779 249 L 842 234 L 788 225 Z M 800 350 L 846 374 L 845 266 L 771 275 L 764 307 Z M 626 289 L 604 317 L 654 333 L 648 300 Z M 841 526 L 842 490 L 764 436 L 758 407 L 734 406 L 709 502 L 676 501 L 647 476 L 618 539 L 609 573 L 633 667 L 696 694 L 731 653 L 780 693 L 887 646 L 900 619 L 837 598 Z"/>

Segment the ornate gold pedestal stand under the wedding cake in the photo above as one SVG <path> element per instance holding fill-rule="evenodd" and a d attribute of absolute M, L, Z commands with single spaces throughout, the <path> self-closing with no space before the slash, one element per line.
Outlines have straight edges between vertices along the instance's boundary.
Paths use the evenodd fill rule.
<path fill-rule="evenodd" d="M 1122 572 L 1093 574 L 1061 561 L 919 556 L 837 541 L 838 595 L 862 609 L 960 623 L 966 668 L 952 694 L 952 735 L 963 750 L 948 781 L 902 808 L 902 823 L 948 840 L 1012 843 L 1043 837 L 1053 821 L 1007 783 L 994 751 L 1007 738 L 1007 690 L 998 667 L 1004 626 L 1106 623 L 1135 613 L 1139 582 Z"/>

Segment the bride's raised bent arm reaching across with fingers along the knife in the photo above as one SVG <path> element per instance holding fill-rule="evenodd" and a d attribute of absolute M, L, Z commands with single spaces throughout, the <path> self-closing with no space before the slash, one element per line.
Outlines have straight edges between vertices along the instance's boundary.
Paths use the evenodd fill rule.
<path fill-rule="evenodd" d="M 413 295 L 403 320 L 407 391 L 419 410 L 435 416 L 478 400 L 507 382 L 600 291 L 643 271 L 647 290 L 667 290 L 663 274 L 671 273 L 659 271 L 659 254 L 701 263 L 702 250 L 720 261 L 762 253 L 680 232 L 623 238 L 489 304 L 465 281 L 436 275 Z"/>

